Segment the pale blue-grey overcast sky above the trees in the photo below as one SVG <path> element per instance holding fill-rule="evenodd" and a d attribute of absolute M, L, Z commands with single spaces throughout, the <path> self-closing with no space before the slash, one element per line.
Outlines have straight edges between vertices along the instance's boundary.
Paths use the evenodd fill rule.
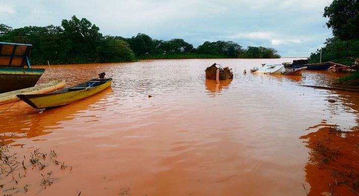
<path fill-rule="evenodd" d="M 282 57 L 308 57 L 332 37 L 323 18 L 331 0 L 0 0 L 0 23 L 13 28 L 61 26 L 73 15 L 103 35 L 145 33 L 154 39 L 235 41 L 272 47 Z"/>

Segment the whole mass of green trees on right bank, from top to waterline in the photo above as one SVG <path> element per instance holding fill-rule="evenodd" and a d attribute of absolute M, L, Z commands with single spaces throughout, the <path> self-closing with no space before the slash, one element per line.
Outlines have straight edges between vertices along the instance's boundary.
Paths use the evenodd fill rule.
<path fill-rule="evenodd" d="M 353 65 L 353 58 L 359 59 L 359 1 L 334 0 L 323 17 L 329 18 L 326 24 L 334 37 L 326 40 L 322 51 L 310 54 L 309 63 L 319 63 L 322 53 L 322 62 Z"/>

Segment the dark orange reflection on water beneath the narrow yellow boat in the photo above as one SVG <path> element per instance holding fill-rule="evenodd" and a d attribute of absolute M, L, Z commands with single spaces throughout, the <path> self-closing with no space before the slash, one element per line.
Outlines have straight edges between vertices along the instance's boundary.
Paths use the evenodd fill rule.
<path fill-rule="evenodd" d="M 83 116 L 86 110 L 94 109 L 95 107 L 92 105 L 104 102 L 104 97 L 110 93 L 112 93 L 112 89 L 108 88 L 81 102 L 48 110 L 34 110 L 24 102 L 16 103 L 2 114 L 2 119 L 6 121 L 7 126 L 4 126 L 0 133 L 4 134 L 3 139 L 5 141 L 52 133 L 54 129 L 64 128 L 61 126 L 63 121 Z M 96 115 L 94 118 L 96 119 Z"/>

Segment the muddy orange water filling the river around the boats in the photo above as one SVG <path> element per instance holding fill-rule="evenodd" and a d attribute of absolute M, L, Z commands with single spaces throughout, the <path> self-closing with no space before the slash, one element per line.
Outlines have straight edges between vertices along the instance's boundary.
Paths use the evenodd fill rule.
<path fill-rule="evenodd" d="M 71 86 L 100 72 L 114 82 L 50 110 L 23 102 L 0 106 L 11 106 L 0 114 L 0 131 L 8 154 L 16 153 L 20 163 L 0 179 L 2 194 L 308 194 L 310 148 L 300 137 L 327 125 L 357 126 L 359 93 L 300 86 L 327 85 L 341 76 L 326 71 L 249 73 L 261 63 L 292 60 L 156 60 L 53 65 L 51 71 L 35 66 L 46 68 L 38 83 L 64 78 Z M 230 66 L 233 80 L 206 80 L 204 70 L 213 63 Z M 30 163 L 40 153 L 42 170 Z"/>

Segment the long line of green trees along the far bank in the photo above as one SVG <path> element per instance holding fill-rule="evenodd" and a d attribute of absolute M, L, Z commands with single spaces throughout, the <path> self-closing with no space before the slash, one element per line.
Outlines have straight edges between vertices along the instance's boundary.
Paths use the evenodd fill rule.
<path fill-rule="evenodd" d="M 12 28 L 0 24 L 0 41 L 32 44 L 31 64 L 132 62 L 139 59 L 280 58 L 274 48 L 248 46 L 233 41 L 205 41 L 197 48 L 183 39 L 153 39 L 139 33 L 131 38 L 105 35 L 85 18 L 72 16 L 61 26 Z"/>

